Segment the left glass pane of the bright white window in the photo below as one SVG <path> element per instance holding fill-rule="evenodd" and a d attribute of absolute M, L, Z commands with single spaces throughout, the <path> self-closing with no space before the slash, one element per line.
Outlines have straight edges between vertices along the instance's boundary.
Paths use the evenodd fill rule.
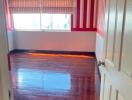
<path fill-rule="evenodd" d="M 40 14 L 13 14 L 13 20 L 17 30 L 40 29 Z"/>

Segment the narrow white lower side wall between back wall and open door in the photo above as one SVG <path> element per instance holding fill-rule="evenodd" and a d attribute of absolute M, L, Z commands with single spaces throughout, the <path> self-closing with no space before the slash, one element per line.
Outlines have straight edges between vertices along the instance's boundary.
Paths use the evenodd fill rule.
<path fill-rule="evenodd" d="M 98 61 L 103 61 L 104 38 L 96 34 L 96 58 Z"/>

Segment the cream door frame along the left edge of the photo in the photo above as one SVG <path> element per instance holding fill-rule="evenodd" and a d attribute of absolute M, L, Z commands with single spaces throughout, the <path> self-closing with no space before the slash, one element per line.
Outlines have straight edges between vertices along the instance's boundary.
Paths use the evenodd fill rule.
<path fill-rule="evenodd" d="M 0 0 L 0 100 L 14 100 L 8 63 L 8 37 L 4 0 Z"/>

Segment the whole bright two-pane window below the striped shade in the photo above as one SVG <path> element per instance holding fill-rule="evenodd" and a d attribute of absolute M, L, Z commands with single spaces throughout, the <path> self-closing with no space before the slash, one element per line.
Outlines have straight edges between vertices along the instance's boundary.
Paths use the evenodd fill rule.
<path fill-rule="evenodd" d="M 16 30 L 56 31 L 71 29 L 70 14 L 13 14 Z"/>

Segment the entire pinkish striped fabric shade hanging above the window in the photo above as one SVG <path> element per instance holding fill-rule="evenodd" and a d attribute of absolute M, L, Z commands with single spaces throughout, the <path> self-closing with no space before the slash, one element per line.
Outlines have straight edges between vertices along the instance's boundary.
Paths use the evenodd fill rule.
<path fill-rule="evenodd" d="M 73 13 L 76 0 L 9 0 L 14 13 Z"/>

